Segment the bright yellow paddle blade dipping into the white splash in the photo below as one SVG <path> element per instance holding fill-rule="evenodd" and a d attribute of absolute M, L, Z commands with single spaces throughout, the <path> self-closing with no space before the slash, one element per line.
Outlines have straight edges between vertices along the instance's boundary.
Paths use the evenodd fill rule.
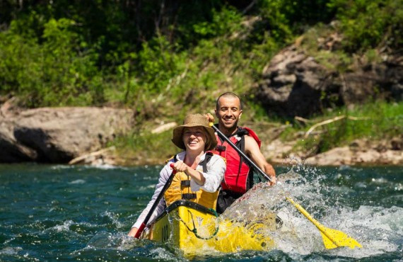
<path fill-rule="evenodd" d="M 349 246 L 350 249 L 363 247 L 356 239 L 336 229 L 322 227 L 320 228 L 320 234 L 322 235 L 323 244 L 325 244 L 326 249 L 336 249 L 340 246 Z"/>

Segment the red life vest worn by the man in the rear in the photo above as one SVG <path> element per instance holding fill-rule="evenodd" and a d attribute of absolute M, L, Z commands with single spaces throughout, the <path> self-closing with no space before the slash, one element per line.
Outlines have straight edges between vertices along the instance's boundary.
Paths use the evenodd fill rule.
<path fill-rule="evenodd" d="M 245 135 L 253 137 L 260 148 L 261 142 L 259 137 L 257 137 L 255 132 L 248 127 L 238 127 L 236 134 L 228 138 L 242 152 L 245 152 Z M 249 175 L 250 166 L 248 166 L 245 161 L 241 159 L 238 152 L 236 152 L 230 144 L 228 144 L 225 140 L 222 141 L 217 134 L 216 137 L 218 144 L 212 152 L 222 156 L 227 161 L 227 169 L 226 173 L 224 174 L 224 180 L 221 183 L 221 188 L 223 190 L 231 190 L 237 193 L 245 193 L 248 189 L 250 189 L 247 188 L 247 178 Z"/>

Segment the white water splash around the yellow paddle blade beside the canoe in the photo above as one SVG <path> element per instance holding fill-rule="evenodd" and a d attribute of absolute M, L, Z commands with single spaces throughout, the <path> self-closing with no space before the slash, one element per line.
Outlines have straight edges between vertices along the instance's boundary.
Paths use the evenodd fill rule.
<path fill-rule="evenodd" d="M 355 190 L 346 186 L 327 186 L 325 179 L 329 176 L 333 174 L 322 173 L 312 166 L 291 166 L 287 173 L 278 176 L 276 186 L 268 186 L 267 183 L 255 185 L 228 207 L 222 217 L 245 224 L 265 222 L 277 225 L 264 234 L 274 239 L 275 249 L 287 254 L 308 255 L 320 252 L 363 258 L 401 250 L 403 208 L 360 206 L 354 210 L 344 206 L 345 198 L 354 195 Z M 385 185 L 389 182 L 385 178 L 376 178 L 371 179 L 370 183 Z M 325 249 L 318 229 L 286 201 L 286 196 L 298 200 L 326 227 L 357 239 L 363 249 Z M 281 227 L 276 223 L 275 215 L 281 219 Z"/>

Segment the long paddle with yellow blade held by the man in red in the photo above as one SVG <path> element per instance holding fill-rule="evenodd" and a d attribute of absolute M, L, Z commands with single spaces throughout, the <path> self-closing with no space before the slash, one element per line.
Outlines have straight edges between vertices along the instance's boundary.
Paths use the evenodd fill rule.
<path fill-rule="evenodd" d="M 213 127 L 213 129 L 216 130 L 217 134 L 222 139 L 226 140 L 226 142 L 230 144 L 230 146 L 233 147 L 233 149 L 235 149 L 235 151 L 238 152 L 238 154 L 240 154 L 240 156 L 242 156 L 243 159 L 248 164 L 253 166 L 253 168 L 257 170 L 262 176 L 267 178 L 267 180 L 271 181 L 271 178 L 267 176 L 267 174 L 264 173 L 262 169 L 259 168 L 259 166 L 257 166 L 252 160 L 250 160 L 249 157 L 247 157 L 244 152 L 242 152 L 238 147 L 236 147 L 235 144 L 233 144 L 233 142 L 231 142 L 230 139 L 226 137 L 226 135 L 224 135 L 220 130 L 218 130 L 218 128 L 215 125 L 212 125 L 211 127 Z M 308 218 L 310 222 L 315 224 L 315 227 L 319 229 L 320 234 L 322 235 L 323 244 L 325 244 L 326 249 L 334 249 L 339 246 L 349 246 L 350 249 L 354 249 L 356 246 L 363 247 L 361 246 L 361 244 L 358 243 L 358 241 L 349 237 L 347 234 L 338 231 L 336 229 L 327 228 L 322 224 L 320 224 L 320 222 L 317 222 L 317 220 L 315 220 L 305 209 L 303 209 L 303 207 L 301 207 L 298 203 L 294 202 L 294 200 L 292 200 L 289 196 L 287 196 L 286 199 L 291 204 L 293 204 L 293 206 L 296 207 L 296 209 L 298 209 L 299 212 L 301 212 L 306 218 Z"/>

